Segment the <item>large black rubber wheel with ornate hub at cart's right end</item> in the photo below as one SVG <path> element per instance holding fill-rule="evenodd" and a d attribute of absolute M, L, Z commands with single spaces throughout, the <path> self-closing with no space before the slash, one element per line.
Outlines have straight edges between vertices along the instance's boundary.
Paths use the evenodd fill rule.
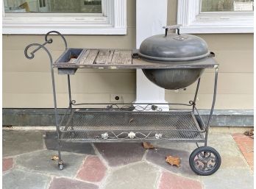
<path fill-rule="evenodd" d="M 201 146 L 191 153 L 189 165 L 196 174 L 207 176 L 214 174 L 221 166 L 221 156 L 216 149 Z"/>

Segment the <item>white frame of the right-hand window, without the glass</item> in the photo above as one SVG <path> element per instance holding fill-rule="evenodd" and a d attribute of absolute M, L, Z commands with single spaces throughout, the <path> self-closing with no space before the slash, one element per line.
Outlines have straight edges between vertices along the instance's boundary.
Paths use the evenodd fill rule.
<path fill-rule="evenodd" d="M 177 24 L 183 33 L 253 33 L 253 13 L 201 13 L 200 0 L 178 0 Z"/>

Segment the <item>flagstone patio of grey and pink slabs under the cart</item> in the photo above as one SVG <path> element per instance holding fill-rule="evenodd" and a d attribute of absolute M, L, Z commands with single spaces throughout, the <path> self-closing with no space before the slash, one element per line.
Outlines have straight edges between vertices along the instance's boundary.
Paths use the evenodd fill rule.
<path fill-rule="evenodd" d="M 60 171 L 51 160 L 57 154 L 54 132 L 3 131 L 3 188 L 253 188 L 253 139 L 244 135 L 209 135 L 208 145 L 218 150 L 222 160 L 221 168 L 210 176 L 191 171 L 188 157 L 195 144 L 152 144 L 155 148 L 146 150 L 141 143 L 63 143 Z M 180 157 L 180 168 L 166 163 L 170 154 Z"/>

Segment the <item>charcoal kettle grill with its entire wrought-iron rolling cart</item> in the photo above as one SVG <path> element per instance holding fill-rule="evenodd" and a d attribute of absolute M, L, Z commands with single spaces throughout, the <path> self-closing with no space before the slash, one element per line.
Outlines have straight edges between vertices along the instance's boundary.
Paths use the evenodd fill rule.
<path fill-rule="evenodd" d="M 155 49 L 154 44 L 151 44 L 153 45 L 152 49 L 146 49 L 148 51 L 143 51 L 142 47 L 135 50 L 68 48 L 65 38 L 57 31 L 48 32 L 43 44 L 32 43 L 26 46 L 24 52 L 28 59 L 34 58 L 35 52 L 39 49 L 45 50 L 49 55 L 59 146 L 58 165 L 60 170 L 63 169 L 64 165 L 60 149 L 60 143 L 63 140 L 79 140 L 93 143 L 152 140 L 193 142 L 196 143 L 197 148 L 189 157 L 191 169 L 199 175 L 210 175 L 218 170 L 221 165 L 221 157 L 216 149 L 207 146 L 207 135 L 216 101 L 218 63 L 214 60 L 212 53 L 207 51 L 207 45 L 204 41 L 196 38 L 195 42 L 195 38 L 191 35 L 180 35 L 179 26 L 166 27 L 166 34 L 157 36 L 157 38 L 161 38 L 162 40 L 166 40 L 168 37 L 170 38 L 170 36 L 167 36 L 168 29 L 177 29 L 177 34 L 170 34 L 170 36 L 171 38 L 177 38 L 171 40 L 177 40 L 179 50 L 182 50 L 180 42 L 190 38 L 193 43 L 197 43 L 201 46 L 199 51 L 193 49 L 194 52 L 192 54 L 183 54 L 184 56 L 180 56 L 180 54 L 177 56 L 175 53 L 171 53 L 171 55 L 167 53 L 167 55 L 165 54 L 163 56 L 159 54 L 147 54 L 147 52 Z M 54 62 L 51 53 L 45 47 L 46 44 L 53 42 L 53 40 L 49 38 L 50 34 L 59 35 L 65 45 L 65 51 Z M 148 42 L 146 41 L 145 43 Z M 144 46 L 145 43 L 142 43 L 142 46 Z M 166 45 L 166 43 L 164 45 Z M 157 46 L 160 46 L 160 44 Z M 32 47 L 34 47 L 34 50 L 29 52 L 29 49 L 32 49 Z M 190 46 L 187 47 L 191 49 Z M 171 49 L 176 50 L 173 46 Z M 161 51 L 159 51 L 159 53 L 161 53 Z M 79 68 L 143 69 L 143 72 L 149 80 L 167 89 L 184 88 L 191 85 L 191 83 L 196 80 L 197 85 L 195 95 L 191 101 L 184 104 L 168 103 L 170 107 L 174 105 L 179 106 L 179 109 L 170 109 L 169 111 L 161 110 L 161 104 L 155 103 L 78 103 L 72 99 L 70 80 L 71 75 L 75 75 Z M 215 79 L 213 84 L 213 102 L 210 108 L 210 114 L 205 122 L 202 120 L 199 110 L 196 108 L 196 98 L 199 91 L 201 74 L 207 68 L 215 69 Z M 57 69 L 58 74 L 67 76 L 68 84 L 68 108 L 60 119 L 60 115 L 58 115 L 57 111 L 54 69 Z M 185 77 L 179 76 L 179 78 L 171 77 L 173 74 L 177 75 L 177 73 L 188 75 Z M 163 77 L 163 75 L 165 75 L 165 77 Z M 157 78 L 157 76 L 159 76 L 159 78 Z M 168 76 L 171 79 L 168 80 Z M 185 81 L 184 78 L 187 78 L 189 81 Z M 104 108 L 88 108 L 92 105 L 103 106 Z M 199 143 L 203 143 L 204 145 L 199 146 Z"/>

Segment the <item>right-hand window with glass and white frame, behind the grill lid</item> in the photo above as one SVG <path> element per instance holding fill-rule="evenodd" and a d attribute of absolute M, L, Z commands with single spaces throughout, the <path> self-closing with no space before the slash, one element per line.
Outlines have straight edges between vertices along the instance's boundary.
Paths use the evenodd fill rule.
<path fill-rule="evenodd" d="M 250 33 L 253 10 L 252 0 L 178 0 L 177 23 L 187 33 Z"/>

